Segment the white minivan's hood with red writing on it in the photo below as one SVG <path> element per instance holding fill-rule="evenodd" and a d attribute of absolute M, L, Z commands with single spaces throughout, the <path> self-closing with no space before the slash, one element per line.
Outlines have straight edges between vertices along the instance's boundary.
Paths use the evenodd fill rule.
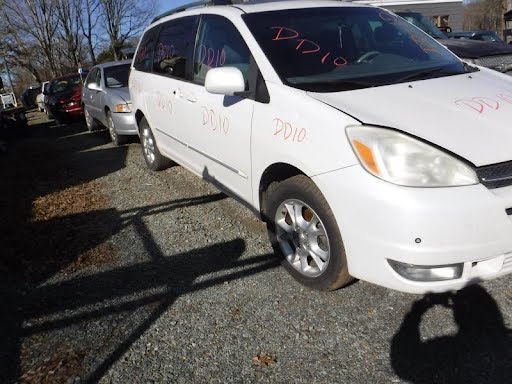
<path fill-rule="evenodd" d="M 410 133 L 476 166 L 512 160 L 512 77 L 482 71 L 308 94 L 364 124 Z"/>

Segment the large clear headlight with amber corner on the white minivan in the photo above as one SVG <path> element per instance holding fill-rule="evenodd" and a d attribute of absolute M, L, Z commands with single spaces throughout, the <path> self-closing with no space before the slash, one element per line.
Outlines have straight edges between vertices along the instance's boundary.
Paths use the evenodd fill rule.
<path fill-rule="evenodd" d="M 383 180 L 408 187 L 478 184 L 475 171 L 449 154 L 391 129 L 354 126 L 347 135 L 363 167 Z"/>

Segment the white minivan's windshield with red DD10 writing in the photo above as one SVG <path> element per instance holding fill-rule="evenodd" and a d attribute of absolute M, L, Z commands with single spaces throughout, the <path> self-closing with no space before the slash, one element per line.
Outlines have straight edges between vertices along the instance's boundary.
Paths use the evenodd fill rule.
<path fill-rule="evenodd" d="M 379 8 L 294 9 L 243 18 L 282 81 L 295 88 L 336 92 L 465 71 L 435 40 Z"/>

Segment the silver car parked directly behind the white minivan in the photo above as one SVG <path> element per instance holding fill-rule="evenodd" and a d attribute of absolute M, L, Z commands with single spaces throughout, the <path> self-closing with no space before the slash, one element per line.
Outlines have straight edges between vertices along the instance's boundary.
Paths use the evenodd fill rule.
<path fill-rule="evenodd" d="M 128 77 L 131 60 L 112 61 L 94 66 L 82 88 L 87 129 L 108 128 L 112 142 L 125 144 L 137 135 L 137 123 L 131 109 Z"/>

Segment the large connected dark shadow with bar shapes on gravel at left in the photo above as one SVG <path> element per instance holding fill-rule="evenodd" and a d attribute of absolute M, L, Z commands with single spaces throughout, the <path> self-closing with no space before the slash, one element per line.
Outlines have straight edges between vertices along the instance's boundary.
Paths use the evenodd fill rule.
<path fill-rule="evenodd" d="M 1 383 L 72 382 L 76 376 L 95 383 L 180 296 L 279 264 L 273 254 L 241 259 L 241 239 L 176 255 L 160 249 L 144 217 L 226 198 L 221 193 L 125 211 L 50 212 L 33 220 L 39 196 L 124 167 L 125 147 L 88 151 L 105 138 L 82 132 L 80 125 L 32 127 L 29 137 L 10 143 L 0 156 Z M 65 196 L 73 205 L 73 196 Z M 84 254 L 128 226 L 142 241 L 147 261 L 73 274 L 77 263 L 87 262 Z M 55 339 L 66 345 L 62 357 L 50 358 Z M 41 368 L 44 359 L 49 361 Z M 38 368 L 27 374 L 26 366 Z"/>

